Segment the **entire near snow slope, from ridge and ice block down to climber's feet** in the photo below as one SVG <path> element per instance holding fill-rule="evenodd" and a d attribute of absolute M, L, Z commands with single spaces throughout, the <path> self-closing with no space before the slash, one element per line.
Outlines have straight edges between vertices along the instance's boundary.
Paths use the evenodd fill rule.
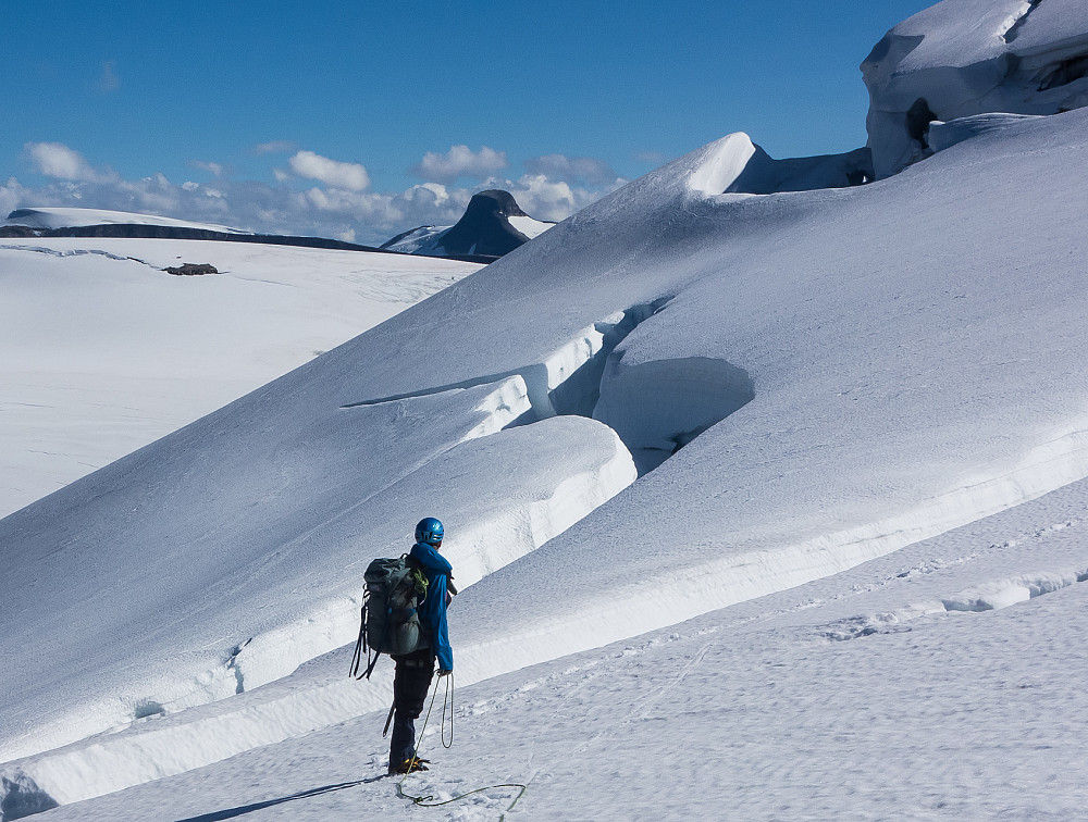
<path fill-rule="evenodd" d="M 945 0 L 870 90 L 1063 2 Z M 724 137 L 0 521 L 3 819 L 1086 818 L 1088 110 L 930 113 L 867 185 Z M 428 811 L 347 676 L 423 515 L 404 790 L 483 788 Z"/>

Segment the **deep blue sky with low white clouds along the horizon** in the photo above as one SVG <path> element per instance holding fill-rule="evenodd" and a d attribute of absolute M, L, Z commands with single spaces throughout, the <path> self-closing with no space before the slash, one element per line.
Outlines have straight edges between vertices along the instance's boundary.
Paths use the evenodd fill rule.
<path fill-rule="evenodd" d="M 0 210 L 380 241 L 500 186 L 558 219 L 730 132 L 774 157 L 864 145 L 857 65 L 929 4 L 15 4 Z"/>

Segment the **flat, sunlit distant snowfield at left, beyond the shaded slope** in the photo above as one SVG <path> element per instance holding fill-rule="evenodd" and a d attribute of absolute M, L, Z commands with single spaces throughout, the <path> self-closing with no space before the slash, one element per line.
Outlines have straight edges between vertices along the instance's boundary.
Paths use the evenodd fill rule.
<path fill-rule="evenodd" d="M 162 271 L 183 261 L 220 274 Z M 477 267 L 203 240 L 0 239 L 0 515 Z"/>

